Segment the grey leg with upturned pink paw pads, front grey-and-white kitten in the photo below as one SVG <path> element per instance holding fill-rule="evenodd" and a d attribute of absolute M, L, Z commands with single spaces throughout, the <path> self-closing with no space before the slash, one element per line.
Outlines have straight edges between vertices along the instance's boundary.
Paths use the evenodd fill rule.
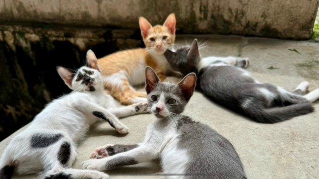
<path fill-rule="evenodd" d="M 134 145 L 121 145 L 121 144 L 106 144 L 105 146 L 97 147 L 91 153 L 90 158 L 100 159 L 107 156 L 113 156 L 118 153 L 126 152 L 139 147 L 138 144 Z"/>

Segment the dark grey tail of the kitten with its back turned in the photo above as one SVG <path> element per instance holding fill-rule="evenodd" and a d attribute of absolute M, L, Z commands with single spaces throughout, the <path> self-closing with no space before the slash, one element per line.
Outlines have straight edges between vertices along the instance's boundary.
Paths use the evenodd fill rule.
<path fill-rule="evenodd" d="M 246 114 L 257 122 L 276 123 L 291 119 L 296 116 L 313 112 L 315 109 L 311 103 L 291 104 L 283 107 L 274 107 L 269 109 L 256 109 L 254 106 L 246 108 Z"/>

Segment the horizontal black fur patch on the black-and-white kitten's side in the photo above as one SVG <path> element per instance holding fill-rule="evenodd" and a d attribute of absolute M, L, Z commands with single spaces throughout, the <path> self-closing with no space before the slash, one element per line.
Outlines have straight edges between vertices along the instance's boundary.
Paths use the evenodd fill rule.
<path fill-rule="evenodd" d="M 45 134 L 37 133 L 31 137 L 31 147 L 33 148 L 43 148 L 50 146 L 63 137 L 62 134 Z"/>

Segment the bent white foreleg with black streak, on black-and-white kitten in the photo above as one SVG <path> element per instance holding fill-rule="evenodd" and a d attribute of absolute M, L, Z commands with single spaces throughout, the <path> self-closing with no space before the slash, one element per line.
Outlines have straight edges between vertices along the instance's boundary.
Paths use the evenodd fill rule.
<path fill-rule="evenodd" d="M 91 119 L 96 119 L 96 117 L 98 117 L 100 119 L 103 119 L 104 121 L 109 122 L 109 124 L 120 134 L 126 134 L 129 132 L 128 127 L 122 124 L 115 115 L 89 100 L 77 99 L 76 101 L 74 101 L 73 106 L 77 110 L 89 116 L 89 118 Z M 92 123 L 94 122 L 96 122 L 96 120 L 92 121 Z"/>

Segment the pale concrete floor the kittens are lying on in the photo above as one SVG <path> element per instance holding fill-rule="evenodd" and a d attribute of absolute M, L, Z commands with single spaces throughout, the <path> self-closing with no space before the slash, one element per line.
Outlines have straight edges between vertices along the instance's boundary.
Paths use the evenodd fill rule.
<path fill-rule="evenodd" d="M 184 35 L 178 36 L 176 46 L 190 43 L 193 38 L 204 44 L 202 56 L 249 57 L 250 67 L 247 70 L 262 83 L 293 90 L 302 81 L 308 81 L 310 90 L 319 88 L 318 43 L 239 36 Z M 270 67 L 273 70 L 268 69 Z M 248 179 L 318 179 L 318 102 L 314 106 L 316 111 L 311 114 L 277 124 L 260 124 L 215 104 L 196 91 L 184 113 L 209 125 L 234 145 Z M 152 121 L 152 114 L 122 119 L 130 129 L 126 136 L 119 135 L 106 123 L 92 126 L 88 138 L 78 146 L 78 158 L 73 167 L 80 168 L 81 162 L 87 160 L 91 151 L 98 146 L 141 142 L 147 125 Z M 0 143 L 0 153 L 17 132 Z M 112 179 L 163 178 L 157 161 L 124 167 L 108 174 Z"/>

